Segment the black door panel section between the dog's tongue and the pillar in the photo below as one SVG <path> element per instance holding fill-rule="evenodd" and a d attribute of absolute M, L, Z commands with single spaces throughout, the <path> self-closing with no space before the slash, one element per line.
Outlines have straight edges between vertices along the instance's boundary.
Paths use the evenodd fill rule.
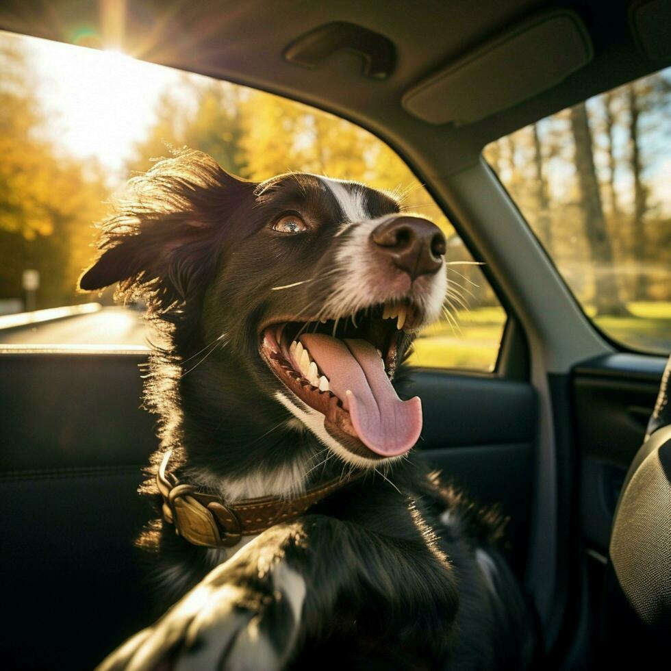
<path fill-rule="evenodd" d="M 421 370 L 403 385 L 422 398 L 418 451 L 480 505 L 498 505 L 510 559 L 524 570 L 531 514 L 537 394 L 529 383 Z"/>

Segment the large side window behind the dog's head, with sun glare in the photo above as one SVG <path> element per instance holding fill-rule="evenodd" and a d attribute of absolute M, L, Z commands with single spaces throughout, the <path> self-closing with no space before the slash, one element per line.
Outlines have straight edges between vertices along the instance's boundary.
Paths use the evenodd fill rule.
<path fill-rule="evenodd" d="M 110 292 L 81 305 L 75 285 L 104 201 L 186 146 L 249 179 L 299 170 L 400 195 L 448 239 L 444 318 L 412 363 L 494 369 L 501 305 L 425 188 L 367 131 L 243 86 L 11 34 L 0 33 L 0 66 L 0 344 L 144 344 L 141 306 L 113 307 Z"/>

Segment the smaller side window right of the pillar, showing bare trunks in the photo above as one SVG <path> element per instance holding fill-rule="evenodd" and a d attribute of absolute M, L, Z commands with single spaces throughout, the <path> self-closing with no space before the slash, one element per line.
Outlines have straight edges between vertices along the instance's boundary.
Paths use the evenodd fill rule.
<path fill-rule="evenodd" d="M 671 351 L 671 68 L 485 147 L 585 314 L 627 348 Z"/>

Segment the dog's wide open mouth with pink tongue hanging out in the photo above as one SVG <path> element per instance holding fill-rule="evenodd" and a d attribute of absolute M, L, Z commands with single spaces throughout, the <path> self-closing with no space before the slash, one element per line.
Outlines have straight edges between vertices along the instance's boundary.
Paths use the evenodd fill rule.
<path fill-rule="evenodd" d="M 401 401 L 391 383 L 399 346 L 419 322 L 411 304 L 392 303 L 338 320 L 275 323 L 262 331 L 261 353 L 325 416 L 340 444 L 362 457 L 394 457 L 412 448 L 422 429 L 420 399 Z"/>

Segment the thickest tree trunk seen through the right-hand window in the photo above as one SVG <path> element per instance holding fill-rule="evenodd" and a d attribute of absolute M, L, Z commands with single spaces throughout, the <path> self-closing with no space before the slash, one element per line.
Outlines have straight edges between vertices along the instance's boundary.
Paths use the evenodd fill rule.
<path fill-rule="evenodd" d="M 618 292 L 618 279 L 613 268 L 613 250 L 603 216 L 603 205 L 592 153 L 592 131 L 587 119 L 585 103 L 572 107 L 571 129 L 575 141 L 575 163 L 580 203 L 585 216 L 585 234 L 594 268 L 596 314 L 629 314 Z"/>

